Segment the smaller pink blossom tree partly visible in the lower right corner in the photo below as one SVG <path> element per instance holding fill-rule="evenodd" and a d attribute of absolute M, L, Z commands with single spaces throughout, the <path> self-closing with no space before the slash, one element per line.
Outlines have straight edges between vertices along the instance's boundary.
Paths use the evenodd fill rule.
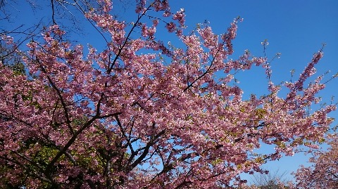
<path fill-rule="evenodd" d="M 331 136 L 332 137 L 332 136 Z M 298 188 L 338 188 L 338 138 L 335 134 L 330 148 L 317 151 L 310 161 L 311 167 L 301 167 L 295 173 Z"/>

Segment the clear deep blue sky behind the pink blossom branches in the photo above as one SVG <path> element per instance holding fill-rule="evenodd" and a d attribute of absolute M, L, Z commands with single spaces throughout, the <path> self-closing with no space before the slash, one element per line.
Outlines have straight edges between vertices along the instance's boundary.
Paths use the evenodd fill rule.
<path fill-rule="evenodd" d="M 123 0 L 122 0 L 123 1 Z M 37 0 L 37 2 L 39 2 Z M 132 1 L 134 2 L 134 1 Z M 311 60 L 313 53 L 318 51 L 322 44 L 327 44 L 324 48 L 324 57 L 317 66 L 318 73 L 331 70 L 324 81 L 338 72 L 338 1 L 337 0 L 238 0 L 238 1 L 217 1 L 217 0 L 187 0 L 169 1 L 172 11 L 184 8 L 187 30 L 194 30 L 196 23 L 208 20 L 213 32 L 221 34 L 227 30 L 230 22 L 237 16 L 244 18 L 244 22 L 239 23 L 237 39 L 234 40 L 234 56 L 237 58 L 245 49 L 249 49 L 254 56 L 263 56 L 261 41 L 268 39 L 267 50 L 268 58 L 275 56 L 275 53 L 282 53 L 280 59 L 273 62 L 273 82 L 279 84 L 290 79 L 290 70 L 296 70 L 298 76 L 307 63 Z M 133 3 L 123 1 L 124 6 L 114 6 L 113 11 L 120 18 L 133 21 L 137 15 L 131 14 L 134 10 Z M 28 12 L 27 4 L 16 4 L 20 11 L 20 21 L 28 27 L 32 23 L 32 18 L 38 18 L 40 13 L 46 17 L 50 16 L 49 8 L 42 8 L 35 13 Z M 131 11 L 128 11 L 131 8 Z M 13 10 L 12 10 L 13 11 Z M 40 12 L 41 11 L 41 12 Z M 35 19 L 34 22 L 37 22 Z M 20 25 L 20 22 L 11 22 L 10 25 L 4 20 L 0 20 L 0 27 L 9 30 L 10 27 Z M 83 27 L 90 27 L 86 23 L 80 23 Z M 9 27 L 8 27 L 9 26 Z M 89 29 L 92 30 L 92 29 Z M 93 37 L 95 31 L 89 32 L 87 37 L 75 36 L 84 46 L 104 46 L 104 41 L 99 34 Z M 166 42 L 166 41 L 164 41 Z M 98 47 L 99 48 L 99 47 Z M 250 93 L 262 94 L 266 89 L 265 75 L 262 69 L 253 69 L 249 72 L 238 74 L 240 85 L 244 88 L 244 96 Z M 331 96 L 337 96 L 338 79 L 327 84 L 327 89 L 320 96 L 327 102 Z M 338 101 L 338 96 L 335 102 Z M 338 118 L 337 112 L 331 117 Z M 337 124 L 337 122 L 335 122 Z M 307 157 L 295 155 L 280 159 L 279 162 L 271 162 L 265 165 L 266 168 L 280 172 L 295 171 L 299 164 L 305 164 Z"/>

